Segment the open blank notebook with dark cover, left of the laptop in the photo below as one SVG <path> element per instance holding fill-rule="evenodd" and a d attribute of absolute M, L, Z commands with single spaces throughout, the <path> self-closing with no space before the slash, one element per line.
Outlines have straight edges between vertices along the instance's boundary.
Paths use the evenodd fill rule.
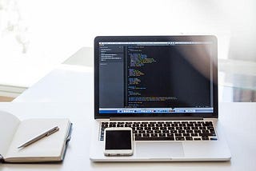
<path fill-rule="evenodd" d="M 62 161 L 66 142 L 70 139 L 71 123 L 66 118 L 33 118 L 19 121 L 17 117 L 0 111 L 0 157 L 4 162 Z M 59 130 L 25 148 L 18 149 L 31 138 L 58 126 Z"/>

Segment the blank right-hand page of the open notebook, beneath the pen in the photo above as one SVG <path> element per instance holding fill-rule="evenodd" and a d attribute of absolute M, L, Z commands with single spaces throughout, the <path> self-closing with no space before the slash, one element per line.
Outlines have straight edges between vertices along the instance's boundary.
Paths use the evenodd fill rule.
<path fill-rule="evenodd" d="M 10 145 L 8 157 L 60 157 L 64 143 L 66 143 L 67 130 L 70 121 L 68 119 L 30 119 L 22 121 Z M 58 126 L 59 130 L 48 137 L 34 142 L 25 148 L 18 149 L 26 141 L 44 133 L 46 130 Z"/>

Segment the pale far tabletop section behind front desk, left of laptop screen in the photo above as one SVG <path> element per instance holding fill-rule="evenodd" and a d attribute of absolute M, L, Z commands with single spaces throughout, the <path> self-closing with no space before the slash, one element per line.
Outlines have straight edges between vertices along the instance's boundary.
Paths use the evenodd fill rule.
<path fill-rule="evenodd" d="M 26 89 L 14 102 L 91 102 L 93 82 L 91 67 L 62 64 Z"/>

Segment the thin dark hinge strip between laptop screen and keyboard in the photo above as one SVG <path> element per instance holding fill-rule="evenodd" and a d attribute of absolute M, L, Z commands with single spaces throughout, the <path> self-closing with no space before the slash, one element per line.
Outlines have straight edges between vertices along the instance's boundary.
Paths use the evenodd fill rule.
<path fill-rule="evenodd" d="M 203 117 L 110 117 L 110 121 L 184 121 L 203 120 Z"/>

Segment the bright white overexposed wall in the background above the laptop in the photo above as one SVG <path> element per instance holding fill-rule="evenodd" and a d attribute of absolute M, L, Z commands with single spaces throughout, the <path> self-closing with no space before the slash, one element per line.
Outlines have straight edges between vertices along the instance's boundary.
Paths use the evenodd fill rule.
<path fill-rule="evenodd" d="M 19 30 L 6 33 L 8 1 L 16 2 Z M 219 58 L 254 58 L 255 7 L 254 0 L 0 0 L 0 72 L 8 71 L 0 84 L 33 84 L 97 35 L 216 34 Z"/>

